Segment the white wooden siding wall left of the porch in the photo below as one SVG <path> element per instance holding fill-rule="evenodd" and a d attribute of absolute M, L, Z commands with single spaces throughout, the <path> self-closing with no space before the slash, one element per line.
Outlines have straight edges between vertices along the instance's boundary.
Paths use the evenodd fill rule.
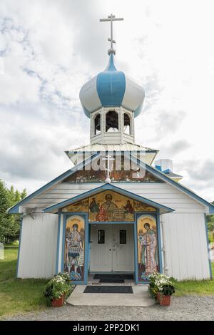
<path fill-rule="evenodd" d="M 50 278 L 56 270 L 58 215 L 24 217 L 19 253 L 19 278 Z"/>

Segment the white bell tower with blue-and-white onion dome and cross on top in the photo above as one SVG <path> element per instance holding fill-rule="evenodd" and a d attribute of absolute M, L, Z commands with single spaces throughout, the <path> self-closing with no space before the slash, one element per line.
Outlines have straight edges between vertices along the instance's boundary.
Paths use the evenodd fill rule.
<path fill-rule="evenodd" d="M 108 66 L 85 83 L 79 95 L 84 113 L 91 119 L 91 145 L 135 143 L 134 118 L 141 113 L 145 93 L 114 63 L 113 21 L 122 20 L 112 14 L 100 20 L 111 22 Z"/>

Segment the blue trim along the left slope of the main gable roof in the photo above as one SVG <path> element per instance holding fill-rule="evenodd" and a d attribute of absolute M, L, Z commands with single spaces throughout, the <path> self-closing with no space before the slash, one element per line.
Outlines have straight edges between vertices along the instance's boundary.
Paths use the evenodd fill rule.
<path fill-rule="evenodd" d="M 23 200 L 17 202 L 16 205 L 9 208 L 8 213 L 9 214 L 19 213 L 19 206 L 24 205 L 25 202 L 31 200 L 33 197 L 36 197 L 36 195 L 39 195 L 41 192 L 44 192 L 44 190 L 53 186 L 54 184 L 56 184 L 56 182 L 59 182 L 60 180 L 63 180 L 65 177 L 69 177 L 69 175 L 73 175 L 74 172 L 76 172 L 77 170 L 79 170 L 83 166 L 87 165 L 87 163 L 90 163 L 90 161 L 93 160 L 94 158 L 96 158 L 97 156 L 98 156 L 98 154 L 94 154 L 91 157 L 88 157 L 83 162 L 79 163 L 78 165 L 75 165 L 73 168 L 67 170 L 66 172 L 63 172 L 61 175 L 59 175 L 55 179 L 51 180 L 51 182 L 48 182 L 46 185 L 39 188 L 39 190 L 36 190 L 35 192 L 31 193 L 31 195 L 28 195 L 28 197 L 25 197 Z"/>

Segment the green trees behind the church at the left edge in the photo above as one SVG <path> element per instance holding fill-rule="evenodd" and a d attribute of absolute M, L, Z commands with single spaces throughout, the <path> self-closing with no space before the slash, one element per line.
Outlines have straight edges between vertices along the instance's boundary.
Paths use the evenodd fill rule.
<path fill-rule="evenodd" d="M 26 190 L 21 193 L 11 186 L 8 189 L 5 183 L 0 180 L 0 242 L 9 244 L 19 239 L 20 215 L 9 215 L 6 210 L 16 202 L 26 197 Z"/>

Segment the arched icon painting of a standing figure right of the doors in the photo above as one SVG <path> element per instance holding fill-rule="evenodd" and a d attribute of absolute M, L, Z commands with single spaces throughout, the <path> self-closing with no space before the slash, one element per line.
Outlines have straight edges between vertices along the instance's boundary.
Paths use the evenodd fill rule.
<path fill-rule="evenodd" d="M 150 274 L 159 272 L 156 217 L 141 215 L 137 220 L 138 281 L 148 281 Z"/>

